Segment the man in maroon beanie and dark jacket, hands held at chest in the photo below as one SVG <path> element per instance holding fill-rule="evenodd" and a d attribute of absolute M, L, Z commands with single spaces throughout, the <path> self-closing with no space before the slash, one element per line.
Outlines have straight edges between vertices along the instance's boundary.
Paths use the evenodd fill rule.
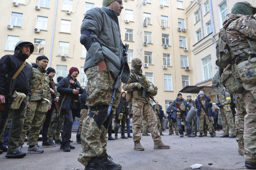
<path fill-rule="evenodd" d="M 80 114 L 81 111 L 78 94 L 83 94 L 84 92 L 84 89 L 81 88 L 80 83 L 76 80 L 78 74 L 78 68 L 71 67 L 68 76 L 60 80 L 57 88 L 58 93 L 61 94 L 60 112 L 61 115 L 65 116 L 62 142 L 60 145 L 60 149 L 63 149 L 64 152 L 70 152 L 70 149 L 75 149 L 75 147 L 70 145 L 71 130 L 76 115 L 78 113 Z M 68 88 L 69 85 L 70 87 Z"/>

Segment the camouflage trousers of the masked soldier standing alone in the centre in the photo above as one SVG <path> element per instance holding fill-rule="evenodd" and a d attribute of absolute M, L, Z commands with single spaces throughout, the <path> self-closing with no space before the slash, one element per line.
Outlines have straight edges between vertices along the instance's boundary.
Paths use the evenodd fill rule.
<path fill-rule="evenodd" d="M 141 139 L 141 127 L 142 127 L 142 115 L 148 123 L 151 131 L 151 136 L 154 141 L 162 141 L 158 135 L 158 122 L 154 110 L 150 103 L 132 101 L 132 133 L 133 141 L 140 141 Z"/>

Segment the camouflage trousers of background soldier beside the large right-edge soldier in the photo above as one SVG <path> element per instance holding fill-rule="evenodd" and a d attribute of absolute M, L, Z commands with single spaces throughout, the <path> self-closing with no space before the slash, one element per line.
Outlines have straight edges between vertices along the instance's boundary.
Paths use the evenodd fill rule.
<path fill-rule="evenodd" d="M 232 111 L 226 111 L 225 109 L 222 109 L 222 113 L 220 113 L 220 119 L 221 119 L 224 135 L 229 134 L 229 128 L 230 128 L 231 135 L 236 136 Z"/>

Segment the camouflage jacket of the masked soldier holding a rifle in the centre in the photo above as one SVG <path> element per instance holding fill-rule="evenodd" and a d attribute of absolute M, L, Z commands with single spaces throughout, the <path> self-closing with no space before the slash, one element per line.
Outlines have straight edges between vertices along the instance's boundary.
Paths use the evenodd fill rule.
<path fill-rule="evenodd" d="M 142 74 L 142 70 L 135 70 L 134 68 L 131 68 L 131 74 L 134 76 L 145 88 L 149 88 L 150 86 L 154 86 L 152 82 L 148 81 L 146 76 Z M 129 78 L 128 83 L 123 85 L 123 89 L 125 91 L 130 91 L 133 88 L 136 88 L 136 82 Z M 138 89 L 137 89 L 138 90 Z M 134 92 L 132 92 L 132 101 L 138 101 L 138 102 L 144 102 L 144 103 L 150 103 L 150 98 L 146 95 L 146 98 L 142 98 L 142 92 L 143 90 L 138 90 L 138 98 L 134 98 Z"/>

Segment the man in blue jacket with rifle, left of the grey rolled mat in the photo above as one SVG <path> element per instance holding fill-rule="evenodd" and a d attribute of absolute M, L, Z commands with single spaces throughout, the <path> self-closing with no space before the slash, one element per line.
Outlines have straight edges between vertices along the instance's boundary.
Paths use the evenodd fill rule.
<path fill-rule="evenodd" d="M 179 107 L 177 106 L 177 104 L 178 104 Z M 176 100 L 173 101 L 171 109 L 174 110 L 173 114 L 174 114 L 174 116 L 176 117 L 176 120 L 177 120 L 180 137 L 184 136 L 183 129 L 181 127 L 181 119 L 187 125 L 188 137 L 195 137 L 195 135 L 191 134 L 192 131 L 191 131 L 190 123 L 188 123 L 185 120 L 185 116 L 188 113 L 188 107 L 195 108 L 192 104 L 188 103 L 187 100 L 182 98 L 182 94 L 181 93 L 178 93 L 178 97 L 176 98 Z"/>

